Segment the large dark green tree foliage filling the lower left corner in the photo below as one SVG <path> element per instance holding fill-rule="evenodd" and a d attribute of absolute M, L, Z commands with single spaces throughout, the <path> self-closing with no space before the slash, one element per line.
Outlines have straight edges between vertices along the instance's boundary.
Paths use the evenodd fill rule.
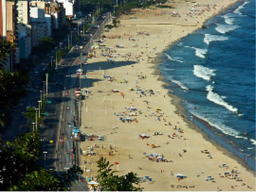
<path fill-rule="evenodd" d="M 40 154 L 40 136 L 37 132 L 25 133 L 13 142 L 1 142 L 0 188 L 7 190 L 36 168 Z"/>

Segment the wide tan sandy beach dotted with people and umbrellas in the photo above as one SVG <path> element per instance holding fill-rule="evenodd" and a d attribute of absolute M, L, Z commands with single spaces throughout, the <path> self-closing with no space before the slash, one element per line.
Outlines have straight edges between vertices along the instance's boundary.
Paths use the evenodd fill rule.
<path fill-rule="evenodd" d="M 172 1 L 172 9 L 123 15 L 117 28 L 104 33 L 104 46 L 93 50 L 81 79 L 86 99 L 80 130 L 94 135 L 80 144 L 84 178 L 95 178 L 103 155 L 118 163 L 118 174 L 137 173 L 144 191 L 255 191 L 253 171 L 177 112 L 155 67 L 163 50 L 234 2 Z"/>

